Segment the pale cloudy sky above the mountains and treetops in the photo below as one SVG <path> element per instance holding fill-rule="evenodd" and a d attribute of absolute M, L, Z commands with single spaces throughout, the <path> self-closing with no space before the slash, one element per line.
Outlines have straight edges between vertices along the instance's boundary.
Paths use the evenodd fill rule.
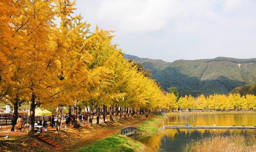
<path fill-rule="evenodd" d="M 256 58 L 256 0 L 76 0 L 74 14 L 140 58 Z"/>

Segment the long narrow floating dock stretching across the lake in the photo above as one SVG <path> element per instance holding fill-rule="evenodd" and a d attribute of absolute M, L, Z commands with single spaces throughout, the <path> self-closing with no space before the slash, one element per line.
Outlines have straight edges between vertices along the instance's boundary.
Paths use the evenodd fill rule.
<path fill-rule="evenodd" d="M 256 129 L 256 126 L 164 125 L 165 129 Z"/>

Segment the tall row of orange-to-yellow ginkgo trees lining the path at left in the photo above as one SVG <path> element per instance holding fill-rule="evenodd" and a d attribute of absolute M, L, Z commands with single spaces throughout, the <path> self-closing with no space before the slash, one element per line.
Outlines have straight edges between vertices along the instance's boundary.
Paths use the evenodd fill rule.
<path fill-rule="evenodd" d="M 69 0 L 0 2 L 0 99 L 13 105 L 16 117 L 20 104 L 31 105 L 29 136 L 38 106 L 58 107 L 60 130 L 62 106 L 74 106 L 76 121 L 81 106 L 155 110 L 176 102 L 123 58 L 111 44 L 113 31 L 89 31 L 73 6 Z"/>

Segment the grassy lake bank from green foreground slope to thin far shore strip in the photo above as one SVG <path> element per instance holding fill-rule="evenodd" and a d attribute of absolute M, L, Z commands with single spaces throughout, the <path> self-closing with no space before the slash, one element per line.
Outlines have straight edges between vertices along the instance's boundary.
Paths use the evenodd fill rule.
<path fill-rule="evenodd" d="M 127 138 L 122 135 L 113 135 L 110 138 L 102 139 L 97 141 L 86 148 L 79 150 L 78 152 L 93 152 L 93 151 L 145 151 L 145 152 L 154 152 L 154 150 L 159 150 L 161 143 L 162 131 L 159 129 L 161 127 L 161 123 L 166 117 L 171 115 L 215 115 L 215 114 L 252 114 L 256 113 L 255 111 L 183 111 L 183 112 L 171 112 L 165 113 L 164 116 L 157 115 L 151 117 L 141 124 L 136 125 L 137 131 L 134 134 L 143 135 L 143 136 L 151 136 L 152 134 L 156 134 L 154 137 L 154 142 L 149 145 L 143 145 L 138 141 L 134 141 L 131 138 Z M 114 140 L 115 139 L 115 140 Z M 132 147 L 143 147 L 142 149 L 130 149 Z M 138 146 L 141 145 L 141 146 Z M 146 147 L 145 147 L 146 146 Z"/>

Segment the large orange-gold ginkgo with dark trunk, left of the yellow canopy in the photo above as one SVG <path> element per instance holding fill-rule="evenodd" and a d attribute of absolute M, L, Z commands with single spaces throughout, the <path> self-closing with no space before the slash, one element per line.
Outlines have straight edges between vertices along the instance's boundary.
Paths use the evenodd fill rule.
<path fill-rule="evenodd" d="M 51 50 L 48 48 L 51 28 L 54 26 L 53 0 L 12 1 L 19 10 L 9 16 L 10 25 L 6 32 L 12 34 L 12 43 L 5 44 L 12 82 L 9 83 L 10 101 L 15 98 L 28 100 L 30 97 L 31 118 L 29 135 L 34 136 L 34 109 L 47 96 L 47 83 L 51 82 Z M 36 103 L 37 102 L 37 103 Z"/>

